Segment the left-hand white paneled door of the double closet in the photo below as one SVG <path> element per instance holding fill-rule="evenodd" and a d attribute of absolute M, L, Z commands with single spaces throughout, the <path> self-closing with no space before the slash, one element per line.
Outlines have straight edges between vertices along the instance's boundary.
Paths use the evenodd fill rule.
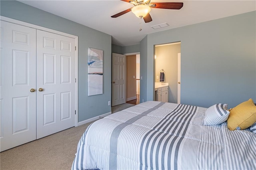
<path fill-rule="evenodd" d="M 1 21 L 1 152 L 36 139 L 36 30 Z"/>

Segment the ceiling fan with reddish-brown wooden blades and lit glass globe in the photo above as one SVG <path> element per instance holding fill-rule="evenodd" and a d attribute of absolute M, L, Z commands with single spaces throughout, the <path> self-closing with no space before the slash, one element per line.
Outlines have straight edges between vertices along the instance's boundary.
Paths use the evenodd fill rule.
<path fill-rule="evenodd" d="M 183 2 L 152 2 L 151 0 L 121 0 L 124 2 L 129 2 L 134 5 L 134 7 L 119 12 L 113 16 L 112 18 L 116 18 L 127 12 L 132 11 L 138 18 L 143 18 L 144 21 L 151 22 L 152 18 L 149 14 L 151 8 L 162 8 L 162 9 L 172 9 L 172 10 L 179 10 L 183 6 Z"/>

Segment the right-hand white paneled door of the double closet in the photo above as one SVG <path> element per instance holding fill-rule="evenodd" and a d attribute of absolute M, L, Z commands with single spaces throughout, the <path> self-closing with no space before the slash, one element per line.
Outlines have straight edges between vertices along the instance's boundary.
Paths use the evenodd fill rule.
<path fill-rule="evenodd" d="M 75 125 L 75 39 L 36 35 L 38 139 Z"/>

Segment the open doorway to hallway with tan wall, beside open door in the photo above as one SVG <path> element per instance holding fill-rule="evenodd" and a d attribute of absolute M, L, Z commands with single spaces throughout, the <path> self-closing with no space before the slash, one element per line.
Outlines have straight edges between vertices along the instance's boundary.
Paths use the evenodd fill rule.
<path fill-rule="evenodd" d="M 126 55 L 126 103 L 140 103 L 140 54 Z"/>

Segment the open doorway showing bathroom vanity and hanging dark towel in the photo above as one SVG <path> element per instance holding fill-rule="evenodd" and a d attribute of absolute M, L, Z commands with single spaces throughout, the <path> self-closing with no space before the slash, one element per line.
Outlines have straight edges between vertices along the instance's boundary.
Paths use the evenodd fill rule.
<path fill-rule="evenodd" d="M 155 45 L 154 51 L 154 100 L 180 104 L 181 42 Z"/>

